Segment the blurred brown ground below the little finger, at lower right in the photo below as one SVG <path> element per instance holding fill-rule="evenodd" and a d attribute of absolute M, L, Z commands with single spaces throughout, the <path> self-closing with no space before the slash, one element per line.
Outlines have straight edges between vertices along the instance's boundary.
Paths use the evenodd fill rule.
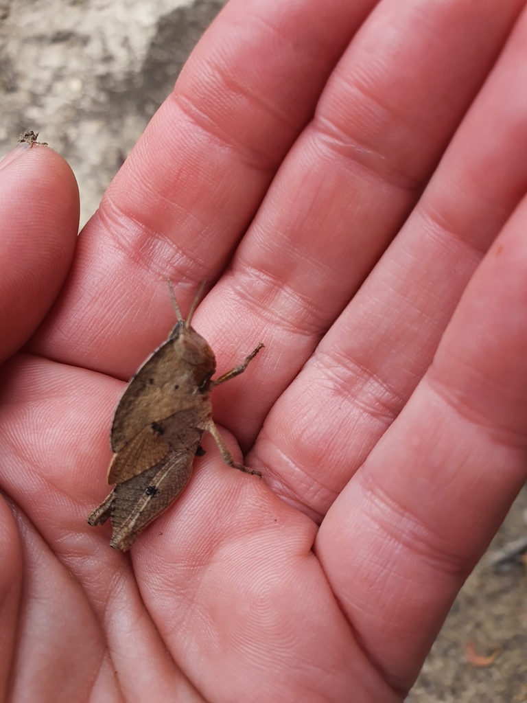
<path fill-rule="evenodd" d="M 527 489 L 509 511 L 489 553 L 527 531 Z M 467 661 L 467 643 L 493 664 Z M 527 574 L 523 562 L 495 573 L 483 557 L 464 584 L 424 662 L 407 703 L 527 701 Z"/>

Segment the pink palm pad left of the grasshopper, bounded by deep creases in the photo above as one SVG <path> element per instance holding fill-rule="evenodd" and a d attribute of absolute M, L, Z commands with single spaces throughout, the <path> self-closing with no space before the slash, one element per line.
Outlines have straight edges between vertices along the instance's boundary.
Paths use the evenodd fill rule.
<path fill-rule="evenodd" d="M 108 493 L 108 427 L 122 383 L 18 354 L 0 376 L 0 486 L 79 583 L 126 700 L 201 702 L 152 624 L 129 558 L 86 522 Z"/>

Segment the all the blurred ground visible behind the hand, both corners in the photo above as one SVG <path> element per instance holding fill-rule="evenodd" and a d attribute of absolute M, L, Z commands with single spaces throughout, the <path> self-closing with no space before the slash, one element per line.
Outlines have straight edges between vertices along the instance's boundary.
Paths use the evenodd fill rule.
<path fill-rule="evenodd" d="M 25 129 L 70 162 L 82 224 L 224 0 L 0 0 L 0 157 Z M 527 529 L 524 489 L 492 549 Z M 467 643 L 493 664 L 467 662 Z M 408 703 L 527 702 L 527 576 L 484 558 Z"/>

